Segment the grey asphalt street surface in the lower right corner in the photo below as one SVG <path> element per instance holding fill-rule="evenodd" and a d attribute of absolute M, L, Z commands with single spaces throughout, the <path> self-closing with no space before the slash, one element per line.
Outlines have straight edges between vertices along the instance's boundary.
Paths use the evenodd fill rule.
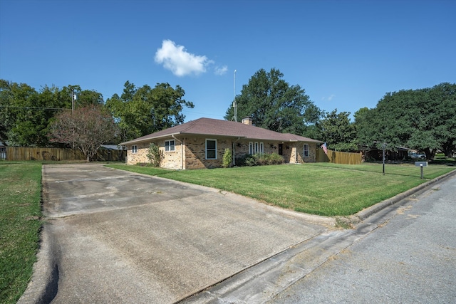
<path fill-rule="evenodd" d="M 454 175 L 366 221 L 378 228 L 269 303 L 456 303 Z"/>

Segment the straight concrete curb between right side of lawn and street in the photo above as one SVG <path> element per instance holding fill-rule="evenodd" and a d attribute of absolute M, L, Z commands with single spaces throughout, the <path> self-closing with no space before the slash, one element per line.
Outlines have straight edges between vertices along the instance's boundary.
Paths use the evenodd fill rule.
<path fill-rule="evenodd" d="M 405 199 L 406 197 L 415 194 L 417 192 L 420 192 L 421 190 L 429 187 L 432 184 L 435 184 L 436 182 L 440 182 L 442 179 L 446 179 L 448 177 L 452 177 L 452 175 L 456 175 L 456 170 L 452 170 L 451 172 L 448 172 L 447 174 L 443 174 L 440 177 L 436 177 L 435 179 L 431 179 L 429 182 L 425 182 L 424 184 L 420 184 L 419 186 L 412 188 L 410 190 L 407 190 L 406 192 L 400 193 L 396 196 L 391 197 L 390 199 L 386 199 L 385 201 L 380 201 L 380 203 L 375 204 L 373 206 L 370 206 L 366 209 L 363 209 L 359 211 L 356 216 L 361 221 L 364 221 L 367 219 L 369 216 L 377 213 L 378 211 L 385 209 L 387 206 L 391 206 L 398 201 L 401 201 Z"/>

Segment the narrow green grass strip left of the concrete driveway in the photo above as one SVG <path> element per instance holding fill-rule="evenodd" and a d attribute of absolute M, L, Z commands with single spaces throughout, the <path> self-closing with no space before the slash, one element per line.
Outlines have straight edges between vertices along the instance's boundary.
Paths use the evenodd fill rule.
<path fill-rule="evenodd" d="M 16 303 L 36 261 L 41 162 L 0 162 L 0 303 Z"/>

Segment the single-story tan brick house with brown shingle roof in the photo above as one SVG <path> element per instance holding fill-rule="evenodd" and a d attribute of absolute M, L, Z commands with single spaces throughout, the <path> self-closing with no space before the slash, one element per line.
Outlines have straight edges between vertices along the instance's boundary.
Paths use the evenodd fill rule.
<path fill-rule="evenodd" d="M 255 127 L 252 119 L 241 122 L 199 118 L 182 125 L 123 142 L 127 164 L 149 162 L 147 151 L 155 143 L 163 152 L 160 167 L 167 169 L 202 169 L 222 167 L 225 149 L 232 152 L 233 165 L 245 154 L 281 154 L 285 162 L 316 162 L 321 141 Z"/>

